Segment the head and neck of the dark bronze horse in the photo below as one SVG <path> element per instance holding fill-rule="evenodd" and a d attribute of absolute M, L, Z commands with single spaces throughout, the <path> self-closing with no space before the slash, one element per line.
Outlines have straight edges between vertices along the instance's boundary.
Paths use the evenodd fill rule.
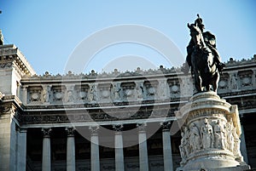
<path fill-rule="evenodd" d="M 205 48 L 206 45 L 204 43 L 202 32 L 201 32 L 200 28 L 197 26 L 197 24 L 189 25 L 189 23 L 188 23 L 188 27 L 190 30 L 190 36 L 192 37 L 192 40 L 194 41 L 195 46 L 197 46 L 199 48 Z"/>

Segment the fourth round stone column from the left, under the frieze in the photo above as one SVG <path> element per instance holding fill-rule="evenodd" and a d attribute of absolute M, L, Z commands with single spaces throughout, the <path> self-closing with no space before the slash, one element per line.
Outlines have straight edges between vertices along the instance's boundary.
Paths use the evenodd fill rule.
<path fill-rule="evenodd" d="M 114 134 L 114 151 L 115 151 L 115 171 L 124 171 L 124 151 L 123 151 L 123 125 L 113 125 Z"/>

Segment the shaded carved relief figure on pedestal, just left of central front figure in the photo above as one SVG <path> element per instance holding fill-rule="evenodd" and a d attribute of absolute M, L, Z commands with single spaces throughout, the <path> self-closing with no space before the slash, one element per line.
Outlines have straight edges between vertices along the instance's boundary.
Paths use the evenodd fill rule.
<path fill-rule="evenodd" d="M 199 129 L 196 127 L 195 123 L 192 123 L 189 129 L 190 129 L 189 144 L 191 145 L 191 149 L 193 151 L 198 151 L 201 149 Z"/>

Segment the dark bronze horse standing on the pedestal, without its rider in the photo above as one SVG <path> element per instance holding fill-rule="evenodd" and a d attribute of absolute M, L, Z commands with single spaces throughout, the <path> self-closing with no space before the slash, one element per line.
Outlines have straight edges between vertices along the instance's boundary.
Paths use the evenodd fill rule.
<path fill-rule="evenodd" d="M 197 24 L 191 24 L 188 27 L 190 30 L 190 36 L 195 43 L 194 51 L 191 54 L 191 72 L 194 73 L 195 89 L 197 93 L 204 91 L 210 91 L 210 85 L 212 90 L 217 92 L 219 73 L 215 64 L 212 50 L 207 47 L 204 41 L 204 37 Z"/>

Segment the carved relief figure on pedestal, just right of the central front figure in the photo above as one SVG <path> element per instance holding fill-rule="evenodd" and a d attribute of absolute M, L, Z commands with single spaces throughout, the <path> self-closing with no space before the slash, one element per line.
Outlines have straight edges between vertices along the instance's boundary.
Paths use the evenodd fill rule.
<path fill-rule="evenodd" d="M 219 149 L 225 149 L 226 147 L 226 135 L 224 126 L 219 123 L 214 125 L 214 147 Z"/>

